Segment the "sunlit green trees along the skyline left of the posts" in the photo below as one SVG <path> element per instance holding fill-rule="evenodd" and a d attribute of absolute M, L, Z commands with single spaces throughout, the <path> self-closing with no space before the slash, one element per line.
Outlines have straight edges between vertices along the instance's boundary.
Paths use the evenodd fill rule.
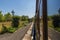
<path fill-rule="evenodd" d="M 2 14 L 2 11 L 0 11 L 0 22 L 5 22 L 5 21 L 12 21 L 12 16 L 14 15 L 14 10 L 12 10 L 12 15 L 10 14 L 10 12 L 7 12 L 6 14 Z M 20 17 L 20 21 L 29 21 L 28 19 L 30 19 L 28 16 L 19 16 Z"/>

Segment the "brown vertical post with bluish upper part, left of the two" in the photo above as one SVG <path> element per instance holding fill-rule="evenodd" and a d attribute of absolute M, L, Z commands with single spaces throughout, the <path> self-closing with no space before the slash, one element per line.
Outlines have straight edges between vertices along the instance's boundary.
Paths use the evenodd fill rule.
<path fill-rule="evenodd" d="M 39 0 L 36 0 L 36 14 L 35 14 L 35 30 L 36 30 L 36 36 L 35 40 L 40 40 L 40 14 L 39 14 Z"/>

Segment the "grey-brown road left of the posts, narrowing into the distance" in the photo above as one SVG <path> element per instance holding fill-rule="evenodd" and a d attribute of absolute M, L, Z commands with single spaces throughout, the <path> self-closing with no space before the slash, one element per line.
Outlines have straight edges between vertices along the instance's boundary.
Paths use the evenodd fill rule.
<path fill-rule="evenodd" d="M 30 26 L 31 26 L 31 23 L 28 24 L 26 27 L 18 29 L 11 36 L 1 38 L 0 40 L 22 40 L 23 36 L 26 34 L 26 32 L 28 31 L 28 29 L 30 28 Z"/>

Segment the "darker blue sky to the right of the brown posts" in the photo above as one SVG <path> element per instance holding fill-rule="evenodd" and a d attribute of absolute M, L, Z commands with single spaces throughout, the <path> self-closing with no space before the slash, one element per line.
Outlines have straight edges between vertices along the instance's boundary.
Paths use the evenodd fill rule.
<path fill-rule="evenodd" d="M 47 3 L 48 15 L 57 14 L 60 8 L 60 0 L 48 0 Z"/>

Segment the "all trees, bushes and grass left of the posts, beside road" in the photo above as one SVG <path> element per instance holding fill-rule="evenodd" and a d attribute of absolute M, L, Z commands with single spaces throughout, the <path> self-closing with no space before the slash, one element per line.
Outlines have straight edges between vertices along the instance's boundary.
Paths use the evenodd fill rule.
<path fill-rule="evenodd" d="M 10 12 L 7 12 L 3 16 L 2 11 L 0 11 L 0 27 L 2 27 L 0 32 L 1 34 L 6 32 L 13 33 L 17 30 L 19 25 L 20 27 L 24 27 L 26 26 L 26 24 L 28 24 L 29 21 L 28 19 L 30 19 L 28 16 L 25 15 L 15 16 L 14 10 L 12 10 L 11 13 L 13 14 L 13 16 L 10 14 Z M 32 20 L 32 18 L 30 20 Z M 6 21 L 8 21 L 8 23 Z M 11 26 L 11 21 L 12 21 L 12 26 Z M 22 21 L 21 24 L 19 24 L 19 21 L 20 22 Z"/>

